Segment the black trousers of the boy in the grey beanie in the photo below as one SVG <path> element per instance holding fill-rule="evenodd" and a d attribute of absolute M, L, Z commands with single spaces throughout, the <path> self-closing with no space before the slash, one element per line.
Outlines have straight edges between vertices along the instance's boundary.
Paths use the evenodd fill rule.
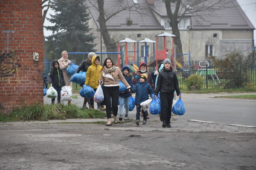
<path fill-rule="evenodd" d="M 166 120 L 167 123 L 171 120 L 173 96 L 174 93 L 160 93 L 161 117 L 163 120 Z"/>

